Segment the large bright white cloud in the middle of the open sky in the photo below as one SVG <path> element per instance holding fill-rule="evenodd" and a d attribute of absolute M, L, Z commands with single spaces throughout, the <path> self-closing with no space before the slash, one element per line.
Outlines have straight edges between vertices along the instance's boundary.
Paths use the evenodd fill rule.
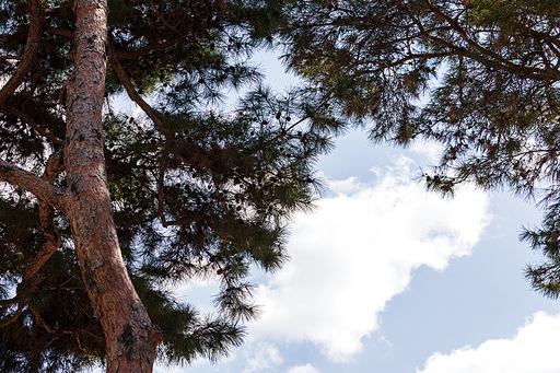
<path fill-rule="evenodd" d="M 265 305 L 252 340 L 312 341 L 331 361 L 361 351 L 386 302 L 405 291 L 411 272 L 443 270 L 468 255 L 487 223 L 488 196 L 464 189 L 453 200 L 412 182 L 401 156 L 375 185 L 332 183 L 338 195 L 296 218 L 291 261 L 258 289 Z"/>

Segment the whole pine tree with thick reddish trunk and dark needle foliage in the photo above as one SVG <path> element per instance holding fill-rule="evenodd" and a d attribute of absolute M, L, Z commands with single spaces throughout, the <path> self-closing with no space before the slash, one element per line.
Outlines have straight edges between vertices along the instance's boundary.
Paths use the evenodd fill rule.
<path fill-rule="evenodd" d="M 151 372 L 242 342 L 249 269 L 285 261 L 287 223 L 312 208 L 313 164 L 342 127 L 248 61 L 282 7 L 0 3 L 2 372 Z M 220 283 L 212 315 L 168 291 L 196 279 Z"/>

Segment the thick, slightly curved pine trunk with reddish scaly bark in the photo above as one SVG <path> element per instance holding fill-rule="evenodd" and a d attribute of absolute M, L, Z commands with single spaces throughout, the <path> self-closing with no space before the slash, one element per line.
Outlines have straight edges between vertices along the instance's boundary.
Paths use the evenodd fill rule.
<path fill-rule="evenodd" d="M 74 70 L 67 83 L 66 213 L 82 277 L 107 343 L 107 372 L 152 372 L 160 333 L 118 245 L 103 155 L 106 0 L 75 0 Z"/>

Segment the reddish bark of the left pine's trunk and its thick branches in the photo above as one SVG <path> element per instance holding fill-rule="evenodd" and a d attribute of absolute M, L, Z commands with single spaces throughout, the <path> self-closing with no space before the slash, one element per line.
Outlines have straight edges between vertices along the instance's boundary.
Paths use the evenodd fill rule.
<path fill-rule="evenodd" d="M 107 372 L 152 372 L 161 334 L 151 323 L 122 260 L 105 173 L 102 107 L 107 58 L 107 2 L 75 0 L 74 7 L 75 54 L 74 70 L 67 82 L 65 164 L 50 165 L 42 178 L 0 160 L 0 180 L 31 191 L 42 205 L 42 229 L 48 242 L 24 275 L 27 288 L 34 287 L 35 280 L 42 280 L 34 275 L 59 245 L 58 234 L 50 226 L 51 206 L 69 218 L 82 277 L 105 334 Z M 27 45 L 15 74 L 0 90 L 0 105 L 21 84 L 38 49 L 40 2 L 30 0 L 30 8 Z M 32 127 L 42 132 L 39 126 Z M 55 143 L 62 142 L 58 138 L 50 139 L 56 140 Z M 59 166 L 66 166 L 69 186 L 66 191 L 51 184 L 56 174 L 49 173 L 58 172 Z M 20 303 L 22 296 L 12 300 L 12 304 Z M 10 322 L 12 319 L 7 320 Z"/>

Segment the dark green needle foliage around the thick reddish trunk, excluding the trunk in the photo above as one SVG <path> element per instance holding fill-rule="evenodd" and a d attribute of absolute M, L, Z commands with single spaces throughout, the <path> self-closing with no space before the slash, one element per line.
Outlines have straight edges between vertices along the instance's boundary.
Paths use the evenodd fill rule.
<path fill-rule="evenodd" d="M 75 28 L 71 1 L 45 1 L 44 11 L 35 68 L 0 107 L 0 156 L 38 175 L 65 145 Z M 243 341 L 243 322 L 258 315 L 250 268 L 273 271 L 287 260 L 289 220 L 311 210 L 320 189 L 314 162 L 343 130 L 316 92 L 278 95 L 252 66 L 249 57 L 271 47 L 272 31 L 287 20 L 281 1 L 109 1 L 107 51 L 118 65 L 108 65 L 106 79 L 107 179 L 129 275 L 163 331 L 163 361 L 215 360 Z M 0 3 L 2 56 L 22 54 L 28 23 L 27 2 Z M 2 79 L 14 61 L 0 59 Z M 113 102 L 130 91 L 158 114 L 119 112 Z M 235 95 L 234 109 L 219 109 Z M 55 184 L 66 187 L 63 171 Z M 23 280 L 47 238 L 36 200 L 13 188 L 1 196 L 0 370 L 103 363 L 103 330 L 66 218 L 52 219 L 61 247 L 37 282 Z M 201 278 L 220 285 L 213 314 L 165 290 Z"/>

